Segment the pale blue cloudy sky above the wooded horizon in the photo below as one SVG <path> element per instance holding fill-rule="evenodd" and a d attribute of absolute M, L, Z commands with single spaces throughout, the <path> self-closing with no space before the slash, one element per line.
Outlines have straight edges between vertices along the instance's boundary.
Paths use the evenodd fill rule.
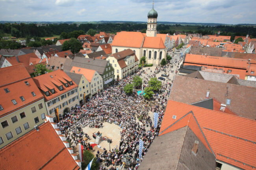
<path fill-rule="evenodd" d="M 0 0 L 2 21 L 147 21 L 151 0 Z M 255 0 L 155 0 L 158 21 L 256 24 Z"/>

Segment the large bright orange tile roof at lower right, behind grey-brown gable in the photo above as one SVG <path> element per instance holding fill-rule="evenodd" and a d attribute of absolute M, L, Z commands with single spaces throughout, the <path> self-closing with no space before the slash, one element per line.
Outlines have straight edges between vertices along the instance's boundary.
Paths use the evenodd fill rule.
<path fill-rule="evenodd" d="M 255 120 L 169 100 L 160 133 L 190 111 L 202 128 L 217 160 L 242 169 L 256 167 Z M 173 119 L 173 115 L 176 119 Z"/>

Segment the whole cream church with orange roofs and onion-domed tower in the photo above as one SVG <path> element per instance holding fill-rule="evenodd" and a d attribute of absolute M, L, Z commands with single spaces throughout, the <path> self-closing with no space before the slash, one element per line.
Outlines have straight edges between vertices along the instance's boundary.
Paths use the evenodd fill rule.
<path fill-rule="evenodd" d="M 112 42 L 112 54 L 126 49 L 134 51 L 139 60 L 145 56 L 147 64 L 160 65 L 161 60 L 165 58 L 167 48 L 163 34 L 157 34 L 158 13 L 153 8 L 148 12 L 147 32 L 127 32 L 117 33 Z M 164 37 L 163 37 L 164 38 Z"/>

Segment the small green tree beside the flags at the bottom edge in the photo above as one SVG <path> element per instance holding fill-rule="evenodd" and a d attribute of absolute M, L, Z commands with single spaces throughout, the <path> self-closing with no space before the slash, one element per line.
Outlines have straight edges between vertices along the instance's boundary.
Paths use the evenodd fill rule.
<path fill-rule="evenodd" d="M 94 155 L 88 151 L 88 150 L 84 150 L 83 151 L 83 162 L 82 162 L 82 169 L 85 169 L 89 163 L 91 162 L 91 160 L 94 158 Z M 96 162 L 97 159 L 93 159 L 93 163 L 91 164 L 91 170 L 98 170 L 98 166 L 99 164 Z"/>

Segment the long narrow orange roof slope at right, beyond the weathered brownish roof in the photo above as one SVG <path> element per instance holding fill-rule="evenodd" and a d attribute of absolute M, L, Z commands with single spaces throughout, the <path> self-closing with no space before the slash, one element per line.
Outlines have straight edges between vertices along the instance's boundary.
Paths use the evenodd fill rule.
<path fill-rule="evenodd" d="M 227 57 L 203 56 L 186 54 L 185 63 L 197 63 L 203 65 L 217 65 L 223 67 L 234 67 L 239 69 L 247 68 L 247 60 Z"/>

